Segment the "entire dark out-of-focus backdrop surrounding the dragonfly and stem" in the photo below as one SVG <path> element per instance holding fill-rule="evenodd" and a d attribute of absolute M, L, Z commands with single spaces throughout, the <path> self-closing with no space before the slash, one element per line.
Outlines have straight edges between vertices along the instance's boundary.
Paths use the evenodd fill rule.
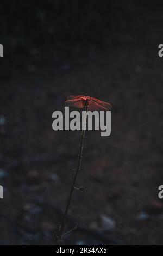
<path fill-rule="evenodd" d="M 67 95 L 110 102 L 111 135 L 87 131 L 66 244 L 163 244 L 162 5 L 5 1 L 0 9 L 1 245 L 51 245 L 80 132 L 53 131 Z"/>

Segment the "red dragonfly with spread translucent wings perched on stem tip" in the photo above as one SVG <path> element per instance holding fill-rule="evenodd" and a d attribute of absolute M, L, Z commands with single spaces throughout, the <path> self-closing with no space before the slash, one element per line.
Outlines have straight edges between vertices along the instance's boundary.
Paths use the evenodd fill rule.
<path fill-rule="evenodd" d="M 65 104 L 67 106 L 77 108 L 84 108 L 86 106 L 86 103 L 88 106 L 88 110 L 90 111 L 107 111 L 108 109 L 112 108 L 112 105 L 108 102 L 104 102 L 96 98 L 84 95 L 70 95 L 67 97 L 67 100 L 65 101 Z"/>

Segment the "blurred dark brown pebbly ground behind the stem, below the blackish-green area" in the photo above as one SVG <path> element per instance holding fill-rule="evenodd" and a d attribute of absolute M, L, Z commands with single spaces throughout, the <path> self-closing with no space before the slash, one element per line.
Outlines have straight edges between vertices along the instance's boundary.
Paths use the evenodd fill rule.
<path fill-rule="evenodd" d="M 85 190 L 74 193 L 67 227 L 79 222 L 82 229 L 66 242 L 163 243 L 161 24 L 162 15 L 143 17 L 108 52 L 95 50 L 71 69 L 64 63 L 58 75 L 49 65 L 1 81 L 1 244 L 53 244 L 80 133 L 54 132 L 52 113 L 70 94 L 94 96 L 114 108 L 110 137 L 86 132 L 78 176 Z"/>

